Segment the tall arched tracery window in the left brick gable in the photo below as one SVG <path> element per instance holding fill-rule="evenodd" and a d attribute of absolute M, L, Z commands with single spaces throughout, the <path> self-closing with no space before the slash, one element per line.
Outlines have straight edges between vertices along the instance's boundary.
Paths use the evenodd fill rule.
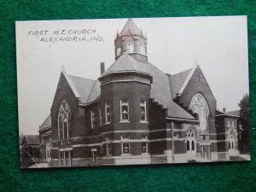
<path fill-rule="evenodd" d="M 66 139 L 69 137 L 68 131 L 70 129 L 71 111 L 66 100 L 61 102 L 58 113 L 58 131 L 59 139 Z"/>

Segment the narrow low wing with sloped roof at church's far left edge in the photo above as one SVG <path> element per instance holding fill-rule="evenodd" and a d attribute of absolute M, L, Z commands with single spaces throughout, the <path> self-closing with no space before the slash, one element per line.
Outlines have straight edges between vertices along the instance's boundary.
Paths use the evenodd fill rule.
<path fill-rule="evenodd" d="M 42 125 L 39 126 L 39 140 L 41 160 L 49 163 L 51 160 L 52 148 L 52 131 L 51 131 L 51 116 L 49 115 Z"/>

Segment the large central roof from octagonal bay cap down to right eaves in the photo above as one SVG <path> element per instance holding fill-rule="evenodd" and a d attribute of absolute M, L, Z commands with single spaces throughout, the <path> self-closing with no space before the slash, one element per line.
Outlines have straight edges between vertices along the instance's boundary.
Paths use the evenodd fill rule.
<path fill-rule="evenodd" d="M 172 101 L 172 90 L 169 77 L 151 63 L 143 63 L 131 55 L 124 54 L 112 66 L 102 73 L 102 77 L 110 73 L 137 72 L 148 74 L 153 78 L 150 97 L 167 109 L 167 116 L 181 119 L 195 119 L 190 113 Z"/>

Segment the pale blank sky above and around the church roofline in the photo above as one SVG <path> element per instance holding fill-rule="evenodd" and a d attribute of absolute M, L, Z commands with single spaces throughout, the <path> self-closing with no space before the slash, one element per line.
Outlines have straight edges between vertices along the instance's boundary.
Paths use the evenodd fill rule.
<path fill-rule="evenodd" d="M 248 93 L 246 16 L 133 20 L 147 32 L 149 62 L 175 74 L 195 67 L 197 61 L 217 108 L 239 109 L 238 103 Z M 97 79 L 100 62 L 106 69 L 113 64 L 113 40 L 126 21 L 16 22 L 20 134 L 38 134 L 50 113 L 62 67 L 67 74 Z"/>

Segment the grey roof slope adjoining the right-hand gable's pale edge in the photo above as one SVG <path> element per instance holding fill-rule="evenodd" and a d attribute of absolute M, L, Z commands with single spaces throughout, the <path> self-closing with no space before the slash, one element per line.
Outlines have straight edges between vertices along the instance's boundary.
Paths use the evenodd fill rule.
<path fill-rule="evenodd" d="M 181 90 L 186 79 L 188 79 L 188 77 L 189 77 L 189 73 L 191 73 L 192 70 L 193 70 L 193 68 L 190 68 L 181 73 L 177 73 L 177 74 L 170 76 L 170 79 L 172 82 L 172 97 L 173 98 L 175 98 L 176 94 Z"/>

